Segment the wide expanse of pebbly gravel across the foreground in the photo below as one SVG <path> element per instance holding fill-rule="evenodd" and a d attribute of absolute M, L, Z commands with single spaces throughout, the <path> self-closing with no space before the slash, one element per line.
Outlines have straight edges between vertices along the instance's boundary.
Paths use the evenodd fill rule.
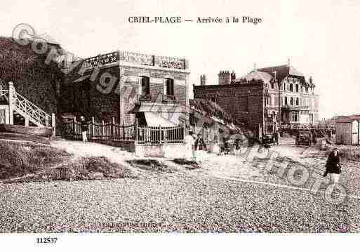
<path fill-rule="evenodd" d="M 3 184 L 0 209 L 1 232 L 360 231 L 357 199 L 333 205 L 305 191 L 182 171 Z"/>

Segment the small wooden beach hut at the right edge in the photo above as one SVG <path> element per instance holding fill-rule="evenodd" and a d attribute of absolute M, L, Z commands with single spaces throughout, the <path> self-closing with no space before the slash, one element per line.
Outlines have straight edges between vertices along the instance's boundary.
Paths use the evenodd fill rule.
<path fill-rule="evenodd" d="M 360 117 L 340 117 L 336 119 L 336 143 L 359 145 Z"/>

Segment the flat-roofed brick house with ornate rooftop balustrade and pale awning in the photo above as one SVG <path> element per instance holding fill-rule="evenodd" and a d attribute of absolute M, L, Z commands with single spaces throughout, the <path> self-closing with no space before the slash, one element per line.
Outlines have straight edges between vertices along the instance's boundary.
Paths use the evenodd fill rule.
<path fill-rule="evenodd" d="M 188 124 L 189 64 L 184 58 L 114 51 L 82 60 L 62 88 L 62 112 L 120 124 Z M 64 102 L 65 104 L 67 102 Z"/>

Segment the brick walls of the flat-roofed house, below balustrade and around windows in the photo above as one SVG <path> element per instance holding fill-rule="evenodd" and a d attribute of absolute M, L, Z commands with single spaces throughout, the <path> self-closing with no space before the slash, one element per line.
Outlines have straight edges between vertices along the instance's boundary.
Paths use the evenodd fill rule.
<path fill-rule="evenodd" d="M 116 78 L 114 83 L 107 80 L 107 84 L 101 88 L 100 77 L 104 73 Z M 85 74 L 92 74 L 93 70 Z M 85 75 L 84 74 L 84 75 Z M 147 67 L 124 67 L 115 65 L 102 68 L 95 80 L 85 79 L 73 83 L 81 77 L 75 73 L 67 76 L 67 81 L 62 85 L 61 112 L 75 112 L 86 117 L 95 117 L 98 121 L 110 120 L 115 117 L 119 123 L 126 125 L 135 122 L 135 114 L 128 113 L 135 107 L 140 94 L 140 77 L 146 76 L 150 79 L 150 94 L 152 101 L 158 98 L 162 102 L 164 83 L 166 78 L 174 79 L 174 94 L 182 104 L 187 102 L 187 74 L 176 72 L 173 69 L 151 69 Z M 121 80 L 121 81 L 120 81 Z M 120 83 L 120 84 L 119 84 Z"/>

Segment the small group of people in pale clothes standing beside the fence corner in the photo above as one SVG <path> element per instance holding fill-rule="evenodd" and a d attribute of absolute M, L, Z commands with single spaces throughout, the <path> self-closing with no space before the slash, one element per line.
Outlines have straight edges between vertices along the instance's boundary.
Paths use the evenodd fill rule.
<path fill-rule="evenodd" d="M 189 135 L 185 137 L 185 158 L 190 161 L 202 161 L 206 154 L 206 145 L 201 133 L 195 135 L 189 131 Z"/>

